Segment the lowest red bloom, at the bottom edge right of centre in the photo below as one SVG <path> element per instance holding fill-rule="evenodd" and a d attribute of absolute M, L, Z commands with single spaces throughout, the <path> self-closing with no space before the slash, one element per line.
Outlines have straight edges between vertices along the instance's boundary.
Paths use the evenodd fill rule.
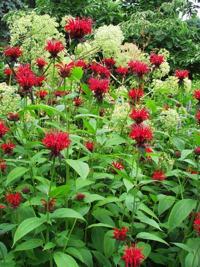
<path fill-rule="evenodd" d="M 130 248 L 126 245 L 126 249 L 123 250 L 126 254 L 121 257 L 122 260 L 125 260 L 126 267 L 138 267 L 141 265 L 141 259 L 145 260 L 145 256 L 141 253 L 142 249 L 138 249 L 136 243 L 134 245 L 130 243 Z"/>

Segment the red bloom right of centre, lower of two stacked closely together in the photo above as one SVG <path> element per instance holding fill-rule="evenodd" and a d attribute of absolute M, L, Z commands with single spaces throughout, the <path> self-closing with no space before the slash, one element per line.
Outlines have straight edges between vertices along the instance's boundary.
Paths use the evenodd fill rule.
<path fill-rule="evenodd" d="M 152 129 L 149 126 L 142 124 L 134 124 L 130 126 L 132 132 L 130 132 L 129 137 L 137 141 L 136 146 L 146 146 L 146 142 L 153 139 Z"/>

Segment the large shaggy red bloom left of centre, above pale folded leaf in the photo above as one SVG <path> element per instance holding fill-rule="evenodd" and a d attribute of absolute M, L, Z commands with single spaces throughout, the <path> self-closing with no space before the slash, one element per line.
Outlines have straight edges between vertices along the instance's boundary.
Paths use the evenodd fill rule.
<path fill-rule="evenodd" d="M 59 157 L 62 158 L 60 151 L 64 148 L 69 148 L 71 140 L 69 138 L 68 132 L 62 132 L 54 129 L 50 130 L 50 134 L 46 132 L 46 137 L 42 139 L 42 143 L 46 144 L 46 148 L 50 149 L 50 156 L 52 158 Z"/>

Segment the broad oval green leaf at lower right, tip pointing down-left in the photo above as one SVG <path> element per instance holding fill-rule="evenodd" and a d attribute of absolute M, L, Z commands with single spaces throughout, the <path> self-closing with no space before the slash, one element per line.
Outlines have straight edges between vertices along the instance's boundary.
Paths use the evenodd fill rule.
<path fill-rule="evenodd" d="M 168 219 L 168 232 L 178 227 L 180 223 L 190 214 L 194 209 L 196 201 L 193 199 L 179 200 L 170 212 Z"/>

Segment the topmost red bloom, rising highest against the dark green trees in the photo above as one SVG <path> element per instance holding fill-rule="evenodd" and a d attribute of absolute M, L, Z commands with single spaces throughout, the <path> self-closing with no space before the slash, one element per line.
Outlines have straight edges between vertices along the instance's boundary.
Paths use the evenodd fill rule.
<path fill-rule="evenodd" d="M 78 42 L 82 42 L 83 37 L 86 34 L 91 34 L 93 25 L 91 18 L 73 18 L 68 19 L 68 24 L 65 26 L 65 30 L 69 33 L 70 37 Z"/>

